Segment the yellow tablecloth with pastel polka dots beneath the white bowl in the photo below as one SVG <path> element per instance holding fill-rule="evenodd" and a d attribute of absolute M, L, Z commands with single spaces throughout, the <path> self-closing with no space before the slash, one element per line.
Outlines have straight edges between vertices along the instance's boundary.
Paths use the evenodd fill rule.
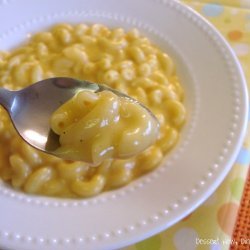
<path fill-rule="evenodd" d="M 183 2 L 209 20 L 228 40 L 242 64 L 250 87 L 250 0 Z M 232 170 L 203 205 L 168 230 L 123 250 L 224 250 L 230 247 L 250 250 L 250 237 L 237 240 L 232 237 L 249 162 L 248 126 L 244 145 Z"/>

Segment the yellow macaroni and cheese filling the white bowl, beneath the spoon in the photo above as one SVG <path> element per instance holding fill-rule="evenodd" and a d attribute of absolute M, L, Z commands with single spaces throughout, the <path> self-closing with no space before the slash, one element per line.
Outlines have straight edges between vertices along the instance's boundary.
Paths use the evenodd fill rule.
<path fill-rule="evenodd" d="M 105 83 L 134 97 L 158 118 L 157 140 L 136 156 L 98 159 L 100 163 L 91 167 L 85 162 L 62 160 L 30 147 L 0 107 L 0 177 L 14 188 L 57 197 L 97 195 L 153 170 L 177 143 L 186 119 L 183 89 L 171 58 L 138 30 L 125 32 L 101 24 L 59 24 L 33 35 L 27 44 L 11 52 L 0 51 L 2 87 L 20 89 L 54 76 Z M 88 98 L 91 104 L 98 96 Z M 61 119 L 59 114 L 56 119 Z M 60 126 L 57 129 L 60 131 Z M 63 140 L 68 139 L 65 136 Z M 104 144 L 109 139 L 100 138 Z M 127 154 L 128 149 L 120 150 Z"/>

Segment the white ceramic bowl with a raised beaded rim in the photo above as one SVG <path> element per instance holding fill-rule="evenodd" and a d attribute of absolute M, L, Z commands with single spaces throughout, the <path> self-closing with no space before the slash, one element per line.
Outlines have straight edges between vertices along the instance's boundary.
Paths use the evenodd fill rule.
<path fill-rule="evenodd" d="M 176 61 L 188 122 L 156 171 L 86 200 L 32 197 L 0 186 L 0 245 L 114 249 L 171 226 L 221 183 L 246 130 L 247 89 L 235 55 L 199 15 L 163 0 L 2 0 L 0 49 L 57 22 L 137 27 Z"/>

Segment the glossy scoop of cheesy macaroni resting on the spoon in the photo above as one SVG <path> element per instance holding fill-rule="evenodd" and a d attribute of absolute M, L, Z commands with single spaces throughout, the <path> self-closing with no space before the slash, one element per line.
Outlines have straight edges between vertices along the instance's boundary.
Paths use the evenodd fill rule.
<path fill-rule="evenodd" d="M 51 117 L 60 136 L 56 155 L 93 165 L 136 156 L 156 141 L 158 127 L 138 102 L 107 90 L 81 91 Z"/>

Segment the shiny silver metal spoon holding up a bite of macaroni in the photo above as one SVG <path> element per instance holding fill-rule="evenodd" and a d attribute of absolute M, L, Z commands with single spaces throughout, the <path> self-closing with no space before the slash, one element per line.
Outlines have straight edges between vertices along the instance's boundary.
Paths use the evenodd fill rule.
<path fill-rule="evenodd" d="M 0 88 L 0 104 L 8 111 L 17 132 L 27 143 L 46 153 L 55 154 L 54 151 L 60 146 L 59 136 L 50 128 L 50 117 L 63 103 L 82 90 L 109 90 L 135 101 L 105 85 L 56 77 L 39 81 L 18 91 Z M 148 112 L 156 119 L 150 110 Z"/>

